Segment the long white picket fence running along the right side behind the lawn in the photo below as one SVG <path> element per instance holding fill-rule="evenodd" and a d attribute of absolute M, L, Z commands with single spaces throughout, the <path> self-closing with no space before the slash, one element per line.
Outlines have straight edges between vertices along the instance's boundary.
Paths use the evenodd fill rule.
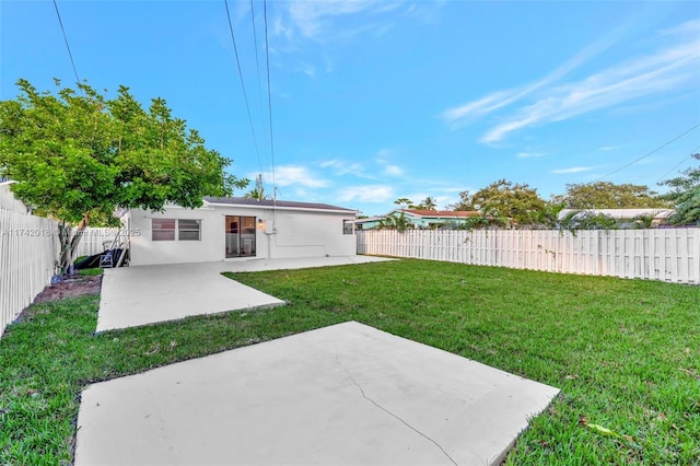
<path fill-rule="evenodd" d="M 700 284 L 700 229 L 358 231 L 358 254 Z"/>

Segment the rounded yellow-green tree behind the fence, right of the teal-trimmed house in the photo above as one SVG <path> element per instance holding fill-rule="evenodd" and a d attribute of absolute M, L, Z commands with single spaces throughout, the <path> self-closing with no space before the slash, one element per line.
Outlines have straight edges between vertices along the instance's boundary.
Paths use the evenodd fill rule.
<path fill-rule="evenodd" d="M 463 202 L 504 225 L 532 224 L 536 212 L 545 207 L 545 200 L 539 197 L 537 189 L 505 179 L 491 183 L 474 196 L 463 199 Z"/>

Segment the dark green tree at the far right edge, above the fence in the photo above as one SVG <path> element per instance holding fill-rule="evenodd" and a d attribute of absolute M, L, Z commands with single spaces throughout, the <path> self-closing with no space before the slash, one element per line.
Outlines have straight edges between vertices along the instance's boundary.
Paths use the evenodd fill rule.
<path fill-rule="evenodd" d="M 691 155 L 700 161 L 700 153 Z M 681 176 L 661 183 L 672 190 L 663 199 L 673 202 L 676 208 L 668 222 L 676 225 L 700 225 L 700 165 L 682 172 Z"/>

